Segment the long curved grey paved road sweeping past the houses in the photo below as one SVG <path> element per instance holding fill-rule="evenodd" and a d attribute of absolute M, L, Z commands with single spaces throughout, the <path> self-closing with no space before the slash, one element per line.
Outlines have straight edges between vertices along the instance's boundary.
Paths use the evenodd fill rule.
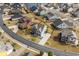
<path fill-rule="evenodd" d="M 58 50 L 58 49 L 55 49 L 55 48 L 42 46 L 42 45 L 39 45 L 37 43 L 28 41 L 28 40 L 20 37 L 16 33 L 12 32 L 10 29 L 8 29 L 8 27 L 6 25 L 3 25 L 2 12 L 3 12 L 3 10 L 0 9 L 0 26 L 7 34 L 9 34 L 12 38 L 14 38 L 14 40 L 17 40 L 17 41 L 19 41 L 19 42 L 21 42 L 25 45 L 28 45 L 28 46 L 33 47 L 33 48 L 38 49 L 38 50 L 42 50 L 42 51 L 45 51 L 45 52 L 52 51 L 57 56 L 73 56 L 73 55 L 78 56 L 79 55 L 78 53 L 69 53 L 69 52 L 64 52 L 64 51 L 61 51 L 61 50 Z"/>

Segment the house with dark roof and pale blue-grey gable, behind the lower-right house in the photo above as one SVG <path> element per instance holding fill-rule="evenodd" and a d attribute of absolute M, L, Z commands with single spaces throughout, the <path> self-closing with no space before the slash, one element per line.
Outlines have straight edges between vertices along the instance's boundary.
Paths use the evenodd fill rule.
<path fill-rule="evenodd" d="M 67 28 L 73 28 L 74 24 L 73 24 L 73 19 L 68 19 L 68 20 L 61 20 L 59 17 L 56 19 L 52 19 L 53 25 L 56 28 L 59 29 L 67 29 Z"/>

